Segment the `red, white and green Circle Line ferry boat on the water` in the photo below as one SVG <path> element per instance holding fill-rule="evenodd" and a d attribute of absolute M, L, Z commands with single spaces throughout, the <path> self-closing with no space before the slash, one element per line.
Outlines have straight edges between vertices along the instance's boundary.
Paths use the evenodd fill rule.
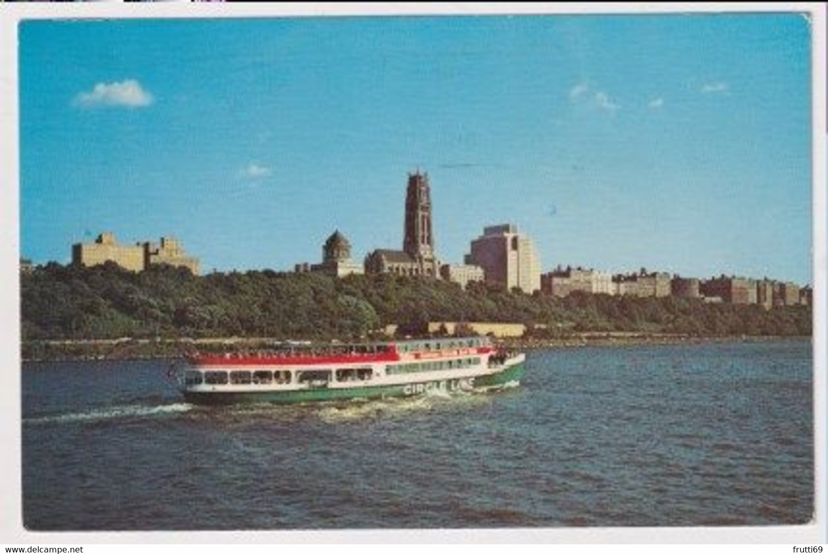
<path fill-rule="evenodd" d="M 486 337 L 280 345 L 190 355 L 181 388 L 187 402 L 200 404 L 407 397 L 518 384 L 525 357 Z"/>

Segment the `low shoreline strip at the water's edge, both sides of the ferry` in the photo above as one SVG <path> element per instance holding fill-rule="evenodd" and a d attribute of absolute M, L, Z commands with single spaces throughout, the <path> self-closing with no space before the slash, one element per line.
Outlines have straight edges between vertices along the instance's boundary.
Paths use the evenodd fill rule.
<path fill-rule="evenodd" d="M 75 362 L 181 359 L 194 350 L 225 352 L 255 348 L 273 339 L 228 337 L 219 339 L 103 339 L 103 340 L 31 340 L 21 344 L 21 362 Z M 635 332 L 588 332 L 539 339 L 507 337 L 493 339 L 508 349 L 570 349 L 585 347 L 659 346 L 672 344 L 711 344 L 727 342 L 763 342 L 779 340 L 813 340 L 810 335 L 727 335 L 697 336 Z"/>

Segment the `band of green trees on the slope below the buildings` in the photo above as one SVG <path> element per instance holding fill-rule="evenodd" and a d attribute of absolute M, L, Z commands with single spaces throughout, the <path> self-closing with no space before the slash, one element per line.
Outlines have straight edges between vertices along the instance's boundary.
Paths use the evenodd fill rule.
<path fill-rule="evenodd" d="M 637 331 L 694 336 L 811 335 L 811 309 L 705 304 L 697 299 L 575 293 L 527 295 L 483 283 L 392 275 L 128 272 L 114 263 L 50 263 L 21 275 L 23 340 L 272 337 L 355 340 L 385 325 L 419 334 L 428 321 L 524 323 L 532 335 Z"/>

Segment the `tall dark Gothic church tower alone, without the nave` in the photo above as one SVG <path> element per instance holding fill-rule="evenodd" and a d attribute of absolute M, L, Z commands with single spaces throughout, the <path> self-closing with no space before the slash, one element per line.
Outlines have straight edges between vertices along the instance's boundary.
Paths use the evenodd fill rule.
<path fill-rule="evenodd" d="M 426 274 L 435 274 L 434 235 L 431 234 L 431 190 L 428 185 L 428 174 L 421 174 L 420 171 L 408 174 L 406 229 L 402 250 L 420 263 Z"/>

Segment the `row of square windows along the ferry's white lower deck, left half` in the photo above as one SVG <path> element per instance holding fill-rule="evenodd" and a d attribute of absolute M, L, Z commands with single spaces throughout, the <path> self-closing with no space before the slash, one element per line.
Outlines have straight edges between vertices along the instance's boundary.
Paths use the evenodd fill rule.
<path fill-rule="evenodd" d="M 349 381 L 367 381 L 372 377 L 371 368 L 337 369 L 309 369 L 296 372 L 296 383 L 330 383 L 334 375 L 340 383 Z M 186 385 L 285 385 L 291 383 L 293 375 L 290 371 L 195 371 L 189 370 L 184 374 Z"/>

